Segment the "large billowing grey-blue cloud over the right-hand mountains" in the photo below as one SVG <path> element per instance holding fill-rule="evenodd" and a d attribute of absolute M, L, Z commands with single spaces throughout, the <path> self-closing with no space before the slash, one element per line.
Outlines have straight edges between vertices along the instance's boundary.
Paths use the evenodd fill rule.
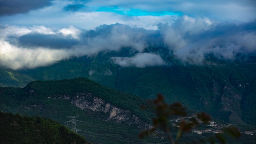
<path fill-rule="evenodd" d="M 159 25 L 164 43 L 177 59 L 202 64 L 205 56 L 235 59 L 238 53 L 255 53 L 256 21 L 244 24 L 217 23 L 184 17 L 173 25 Z"/>

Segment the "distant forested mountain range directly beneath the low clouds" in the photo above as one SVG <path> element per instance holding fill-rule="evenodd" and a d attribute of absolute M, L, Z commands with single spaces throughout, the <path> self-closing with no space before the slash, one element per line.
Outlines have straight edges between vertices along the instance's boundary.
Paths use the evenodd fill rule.
<path fill-rule="evenodd" d="M 193 110 L 207 111 L 226 122 L 256 125 L 253 120 L 256 117 L 254 57 L 247 61 L 210 59 L 204 65 L 174 62 L 173 65 L 145 68 L 120 67 L 110 61 L 112 56 L 124 53 L 99 53 L 95 57 L 73 58 L 32 70 L 2 68 L 0 85 L 25 86 L 31 80 L 87 77 L 142 98 L 153 99 L 161 93 L 170 103 L 180 101 Z"/>

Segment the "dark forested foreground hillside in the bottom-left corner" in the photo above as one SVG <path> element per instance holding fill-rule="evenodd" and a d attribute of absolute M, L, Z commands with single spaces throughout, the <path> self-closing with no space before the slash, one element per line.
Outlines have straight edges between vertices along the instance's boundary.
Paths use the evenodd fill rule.
<path fill-rule="evenodd" d="M 88 144 L 51 119 L 0 112 L 0 144 Z"/>

